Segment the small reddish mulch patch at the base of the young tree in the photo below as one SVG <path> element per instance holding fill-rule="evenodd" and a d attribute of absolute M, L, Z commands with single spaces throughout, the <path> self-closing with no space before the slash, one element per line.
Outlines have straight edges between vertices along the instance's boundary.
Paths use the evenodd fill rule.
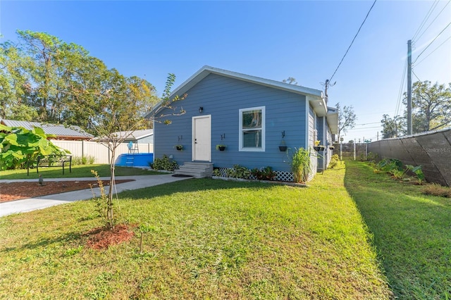
<path fill-rule="evenodd" d="M 136 227 L 132 225 L 118 224 L 113 229 L 108 230 L 106 227 L 94 228 L 87 232 L 87 246 L 92 249 L 107 249 L 109 246 L 127 242 L 135 236 L 130 228 Z"/>

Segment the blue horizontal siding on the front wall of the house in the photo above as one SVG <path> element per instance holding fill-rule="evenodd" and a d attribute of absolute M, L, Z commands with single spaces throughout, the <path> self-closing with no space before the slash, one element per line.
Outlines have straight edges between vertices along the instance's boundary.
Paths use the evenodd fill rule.
<path fill-rule="evenodd" d="M 211 115 L 211 162 L 215 167 L 230 168 L 234 164 L 247 168 L 267 165 L 274 170 L 290 170 L 285 152 L 278 146 L 285 130 L 285 142 L 289 148 L 306 148 L 305 96 L 279 89 L 210 74 L 187 92 L 187 98 L 175 104 L 186 113 L 171 116 L 171 125 L 155 123 L 155 157 L 173 155 L 179 164 L 192 160 L 192 117 Z M 199 113 L 199 107 L 204 111 Z M 266 151 L 238 151 L 240 108 L 266 107 Z M 163 111 L 170 113 L 170 111 Z M 221 135 L 225 139 L 221 140 Z M 180 139 L 179 139 L 180 138 Z M 177 151 L 175 144 L 182 144 Z M 216 151 L 216 144 L 226 144 L 226 151 Z"/>

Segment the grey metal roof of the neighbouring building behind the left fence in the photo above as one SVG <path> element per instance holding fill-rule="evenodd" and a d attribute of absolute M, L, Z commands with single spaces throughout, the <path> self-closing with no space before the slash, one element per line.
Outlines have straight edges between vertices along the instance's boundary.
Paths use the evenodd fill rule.
<path fill-rule="evenodd" d="M 16 120 L 0 120 L 0 123 L 8 127 L 24 127 L 27 130 L 32 130 L 33 127 L 41 127 L 46 135 L 55 135 L 51 139 L 66 140 L 66 141 L 85 141 L 92 139 L 93 135 L 85 132 L 78 126 L 61 125 L 61 124 L 49 124 L 29 121 L 16 121 Z"/>

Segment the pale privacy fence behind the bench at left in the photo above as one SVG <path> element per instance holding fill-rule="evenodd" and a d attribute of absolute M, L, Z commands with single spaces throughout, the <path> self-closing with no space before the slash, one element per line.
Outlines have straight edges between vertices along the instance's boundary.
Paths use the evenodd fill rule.
<path fill-rule="evenodd" d="M 70 151 L 72 156 L 78 157 L 94 157 L 94 163 L 109 163 L 111 158 L 111 151 L 108 146 L 98 142 L 86 142 L 86 141 L 60 141 L 51 140 L 56 146 Z M 138 151 L 140 153 L 153 153 L 153 144 L 137 144 Z M 128 154 L 128 144 L 121 144 L 116 149 L 116 158 L 120 154 Z"/>

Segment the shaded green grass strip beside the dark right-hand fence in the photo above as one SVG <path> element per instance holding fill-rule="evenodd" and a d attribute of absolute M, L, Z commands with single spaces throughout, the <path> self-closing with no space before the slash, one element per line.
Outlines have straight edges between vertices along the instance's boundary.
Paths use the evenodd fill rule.
<path fill-rule="evenodd" d="M 451 199 L 347 161 L 345 185 L 399 299 L 451 299 Z"/>

